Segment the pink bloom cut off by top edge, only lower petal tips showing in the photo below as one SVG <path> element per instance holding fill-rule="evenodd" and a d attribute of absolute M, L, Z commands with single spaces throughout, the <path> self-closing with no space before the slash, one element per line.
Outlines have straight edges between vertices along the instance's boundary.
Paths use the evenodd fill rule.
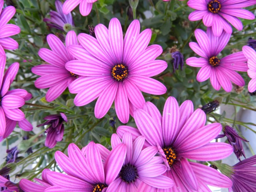
<path fill-rule="evenodd" d="M 80 14 L 83 16 L 87 16 L 91 12 L 91 8 L 93 8 L 93 3 L 97 0 L 66 0 L 63 5 L 63 13 L 68 14 L 74 8 L 76 8 L 77 5 L 79 5 Z"/>

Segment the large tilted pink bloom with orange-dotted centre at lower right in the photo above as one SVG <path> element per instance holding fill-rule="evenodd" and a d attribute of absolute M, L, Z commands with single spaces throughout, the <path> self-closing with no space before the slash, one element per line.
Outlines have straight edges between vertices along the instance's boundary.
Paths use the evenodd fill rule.
<path fill-rule="evenodd" d="M 222 125 L 212 123 L 204 126 L 206 114 L 201 109 L 193 110 L 191 101 L 183 102 L 179 108 L 176 99 L 169 97 L 162 117 L 153 103 L 146 102 L 144 109 L 137 109 L 134 113 L 138 129 L 129 126 L 117 129 L 120 138 L 130 131 L 133 139 L 143 135 L 148 142 L 146 146 L 158 146 L 169 169 L 163 175 L 174 181 L 174 186 L 166 192 L 205 192 L 210 191 L 207 185 L 221 188 L 232 186 L 230 179 L 217 170 L 187 160 L 216 161 L 233 152 L 227 143 L 209 143 L 221 132 Z M 150 188 L 148 185 L 144 191 L 150 191 Z"/>

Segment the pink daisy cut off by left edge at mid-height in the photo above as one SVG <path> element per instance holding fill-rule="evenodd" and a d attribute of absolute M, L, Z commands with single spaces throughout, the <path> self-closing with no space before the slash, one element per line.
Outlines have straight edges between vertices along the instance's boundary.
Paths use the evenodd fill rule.
<path fill-rule="evenodd" d="M 31 94 L 23 89 L 8 91 L 18 73 L 19 63 L 13 63 L 4 74 L 5 60 L 5 55 L 0 56 L 0 141 L 10 135 L 17 121 L 24 131 L 33 129 L 25 119 L 25 114 L 19 109 L 25 104 L 25 100 L 31 97 Z"/>

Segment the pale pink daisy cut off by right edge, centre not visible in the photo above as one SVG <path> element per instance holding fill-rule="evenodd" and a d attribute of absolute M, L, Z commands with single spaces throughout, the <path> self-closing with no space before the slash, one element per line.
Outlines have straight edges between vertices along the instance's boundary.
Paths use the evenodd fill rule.
<path fill-rule="evenodd" d="M 248 84 L 248 91 L 254 92 L 256 90 L 256 52 L 249 46 L 243 46 L 242 48 L 244 56 L 248 59 L 248 76 L 252 78 Z"/>

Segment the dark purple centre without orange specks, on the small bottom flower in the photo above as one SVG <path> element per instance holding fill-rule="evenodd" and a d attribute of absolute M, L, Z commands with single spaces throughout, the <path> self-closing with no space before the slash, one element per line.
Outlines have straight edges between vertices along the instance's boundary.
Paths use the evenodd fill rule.
<path fill-rule="evenodd" d="M 122 167 L 119 176 L 123 181 L 130 183 L 138 178 L 138 172 L 135 166 L 127 164 Z"/>

